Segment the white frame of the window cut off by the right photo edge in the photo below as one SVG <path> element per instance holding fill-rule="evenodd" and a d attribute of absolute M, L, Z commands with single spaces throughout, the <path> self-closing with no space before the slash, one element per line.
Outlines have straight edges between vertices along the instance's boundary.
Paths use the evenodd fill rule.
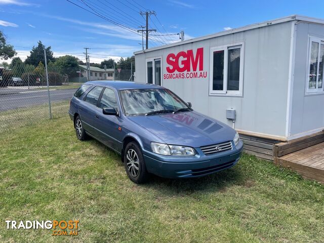
<path fill-rule="evenodd" d="M 309 89 L 309 75 L 310 75 L 310 59 L 311 59 L 311 48 L 312 43 L 318 43 L 318 54 L 317 54 L 317 70 L 316 70 L 316 87 L 315 89 Z M 308 35 L 308 50 L 307 50 L 307 66 L 306 66 L 306 84 L 305 84 L 305 95 L 324 94 L 324 79 L 322 80 L 322 88 L 318 88 L 318 77 L 319 77 L 319 58 L 320 58 L 320 46 L 324 45 L 324 37 Z M 324 65 L 324 60 L 322 61 Z"/>

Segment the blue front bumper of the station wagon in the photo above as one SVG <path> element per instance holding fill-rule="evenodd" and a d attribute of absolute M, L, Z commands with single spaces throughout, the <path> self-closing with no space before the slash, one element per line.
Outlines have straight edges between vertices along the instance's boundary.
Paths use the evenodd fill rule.
<path fill-rule="evenodd" d="M 194 156 L 166 156 L 143 149 L 146 169 L 149 173 L 165 178 L 193 178 L 209 175 L 236 165 L 243 149 L 240 140 L 228 151 L 205 155 L 195 148 Z"/>

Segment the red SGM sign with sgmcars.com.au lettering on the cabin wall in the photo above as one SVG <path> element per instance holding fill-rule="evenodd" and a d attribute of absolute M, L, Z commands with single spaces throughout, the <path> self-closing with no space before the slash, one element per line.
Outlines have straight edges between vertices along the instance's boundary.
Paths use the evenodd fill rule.
<path fill-rule="evenodd" d="M 204 71 L 204 48 L 198 48 L 194 55 L 193 50 L 179 52 L 177 55 L 170 53 L 167 56 L 167 72 L 164 79 L 176 78 L 206 78 Z"/>

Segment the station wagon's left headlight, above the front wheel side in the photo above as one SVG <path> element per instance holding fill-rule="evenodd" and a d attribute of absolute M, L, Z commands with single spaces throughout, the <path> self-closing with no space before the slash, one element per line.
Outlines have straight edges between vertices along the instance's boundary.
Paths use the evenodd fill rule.
<path fill-rule="evenodd" d="M 181 145 L 168 145 L 165 143 L 151 142 L 151 148 L 154 153 L 161 155 L 191 156 L 195 155 L 193 148 Z"/>

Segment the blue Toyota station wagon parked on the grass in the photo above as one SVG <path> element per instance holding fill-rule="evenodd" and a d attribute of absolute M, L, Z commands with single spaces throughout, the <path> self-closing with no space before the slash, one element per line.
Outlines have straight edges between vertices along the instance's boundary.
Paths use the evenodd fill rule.
<path fill-rule="evenodd" d="M 76 136 L 121 154 L 128 177 L 201 177 L 234 166 L 243 143 L 234 129 L 200 114 L 172 91 L 123 81 L 91 81 L 70 101 Z"/>

